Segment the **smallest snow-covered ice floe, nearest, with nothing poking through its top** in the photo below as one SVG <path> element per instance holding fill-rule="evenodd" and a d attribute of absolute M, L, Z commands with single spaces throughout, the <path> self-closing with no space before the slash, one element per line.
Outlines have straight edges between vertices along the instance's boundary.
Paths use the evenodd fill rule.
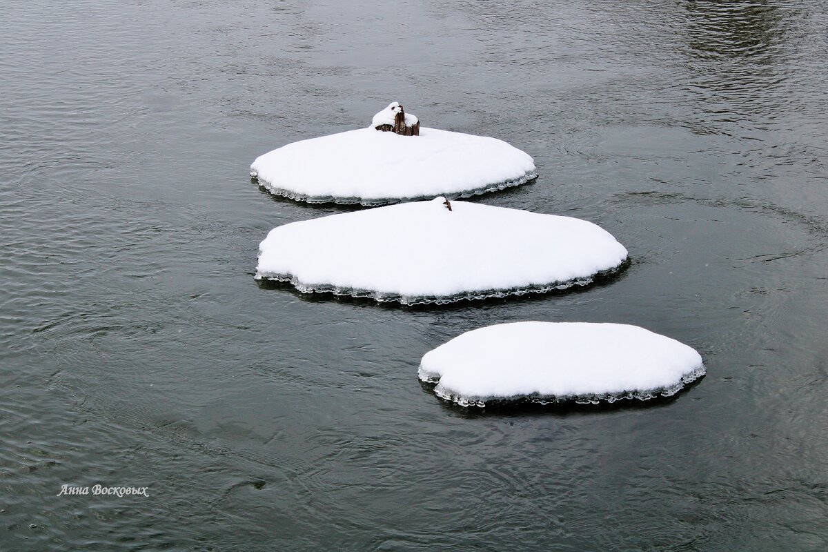
<path fill-rule="evenodd" d="M 426 353 L 419 377 L 461 406 L 672 396 L 705 375 L 696 350 L 627 324 L 517 322 L 475 329 Z"/>

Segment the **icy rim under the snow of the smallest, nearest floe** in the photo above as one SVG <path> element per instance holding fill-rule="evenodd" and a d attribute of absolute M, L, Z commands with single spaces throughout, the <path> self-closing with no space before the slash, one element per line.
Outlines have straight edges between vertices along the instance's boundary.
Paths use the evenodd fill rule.
<path fill-rule="evenodd" d="M 682 376 L 681 381 L 676 383 L 676 385 L 669 387 L 661 387 L 658 389 L 650 389 L 647 391 L 623 391 L 620 393 L 600 394 L 591 393 L 588 395 L 571 396 L 541 395 L 539 393 L 533 393 L 532 395 L 518 395 L 514 397 L 482 397 L 457 395 L 441 387 L 439 383 L 440 377 L 429 374 L 428 372 L 423 370 L 422 366 L 420 366 L 419 370 L 417 371 L 417 377 L 419 377 L 422 382 L 431 384 L 436 383 L 437 386 L 434 388 L 434 392 L 436 396 L 439 396 L 441 399 L 445 399 L 445 401 L 453 402 L 458 406 L 479 406 L 480 408 L 485 408 L 486 406 L 511 406 L 527 402 L 538 405 L 556 405 L 569 401 L 575 401 L 575 403 L 579 405 L 597 405 L 601 401 L 605 401 L 609 404 L 612 404 L 615 401 L 622 401 L 623 399 L 638 399 L 638 401 L 649 401 L 650 399 L 655 399 L 658 396 L 673 396 L 677 392 L 681 391 L 681 389 L 683 389 L 684 386 L 692 382 L 695 382 L 700 377 L 704 377 L 705 373 L 707 373 L 707 371 L 705 370 L 704 365 L 701 365 L 692 372 L 686 373 L 684 376 Z"/>

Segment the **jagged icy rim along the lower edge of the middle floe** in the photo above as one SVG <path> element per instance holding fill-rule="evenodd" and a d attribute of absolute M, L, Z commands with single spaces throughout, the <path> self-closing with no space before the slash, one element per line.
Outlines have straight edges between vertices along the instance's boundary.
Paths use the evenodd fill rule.
<path fill-rule="evenodd" d="M 605 277 L 612 276 L 622 271 L 624 268 L 628 266 L 629 262 L 629 257 L 627 257 L 618 265 L 603 271 L 598 271 L 592 276 L 574 278 L 572 280 L 567 281 L 557 281 L 552 282 L 551 284 L 514 287 L 502 290 L 492 289 L 464 291 L 462 293 L 458 293 L 455 295 L 440 296 L 419 295 L 412 297 L 409 295 L 399 295 L 395 293 L 386 293 L 383 291 L 376 290 L 358 290 L 352 287 L 334 286 L 332 284 L 319 284 L 315 286 L 308 286 L 299 281 L 299 279 L 296 278 L 296 276 L 291 276 L 290 274 L 267 274 L 257 272 L 255 279 L 288 282 L 291 284 L 291 286 L 294 286 L 297 290 L 301 291 L 301 293 L 332 293 L 334 295 L 348 295 L 350 297 L 354 297 L 357 299 L 373 299 L 380 303 L 397 301 L 401 305 L 447 305 L 449 303 L 454 303 L 455 301 L 461 300 L 503 298 L 511 295 L 527 295 L 529 293 L 540 294 L 548 293 L 552 290 L 566 290 L 573 286 L 589 286 L 590 284 L 594 283 L 596 279 L 603 279 Z"/>

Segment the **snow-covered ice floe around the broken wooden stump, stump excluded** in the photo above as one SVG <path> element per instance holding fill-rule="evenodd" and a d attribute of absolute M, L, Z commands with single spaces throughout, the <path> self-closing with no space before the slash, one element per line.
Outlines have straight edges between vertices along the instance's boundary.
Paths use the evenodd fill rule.
<path fill-rule="evenodd" d="M 380 205 L 470 197 L 537 178 L 532 157 L 496 138 L 421 128 L 360 128 L 259 156 L 250 175 L 272 194 L 309 203 Z"/>

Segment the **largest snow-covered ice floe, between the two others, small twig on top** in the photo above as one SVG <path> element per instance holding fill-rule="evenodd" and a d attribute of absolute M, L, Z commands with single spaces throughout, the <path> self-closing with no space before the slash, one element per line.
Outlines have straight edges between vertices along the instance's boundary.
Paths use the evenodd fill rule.
<path fill-rule="evenodd" d="M 440 197 L 274 228 L 259 245 L 256 278 L 412 305 L 585 286 L 627 260 L 623 245 L 585 220 L 445 203 Z"/>

